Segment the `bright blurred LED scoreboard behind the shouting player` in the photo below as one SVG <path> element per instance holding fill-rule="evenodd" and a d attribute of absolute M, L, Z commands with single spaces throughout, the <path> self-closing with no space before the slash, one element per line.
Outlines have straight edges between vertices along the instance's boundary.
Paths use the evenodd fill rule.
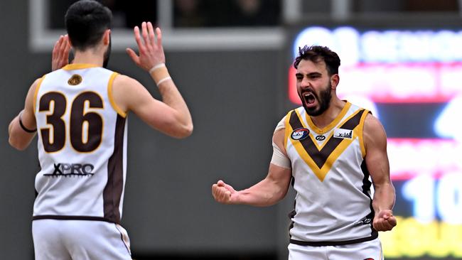
<path fill-rule="evenodd" d="M 341 99 L 372 111 L 388 136 L 398 226 L 387 259 L 462 259 L 462 29 L 304 28 L 303 45 L 340 56 Z M 295 70 L 289 100 L 301 104 Z"/>

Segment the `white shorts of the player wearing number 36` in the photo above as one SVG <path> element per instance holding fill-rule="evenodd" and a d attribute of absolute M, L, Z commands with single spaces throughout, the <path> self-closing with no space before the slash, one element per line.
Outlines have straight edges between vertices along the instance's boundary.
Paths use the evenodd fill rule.
<path fill-rule="evenodd" d="M 127 231 L 92 220 L 33 220 L 36 260 L 131 259 Z"/>

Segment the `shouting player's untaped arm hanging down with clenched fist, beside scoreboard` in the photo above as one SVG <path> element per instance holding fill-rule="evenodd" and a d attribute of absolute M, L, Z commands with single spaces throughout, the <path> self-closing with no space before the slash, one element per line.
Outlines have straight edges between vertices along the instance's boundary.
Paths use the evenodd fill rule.
<path fill-rule="evenodd" d="M 372 207 L 375 210 L 374 228 L 391 230 L 397 221 L 393 216 L 395 193 L 390 180 L 390 164 L 387 156 L 387 135 L 380 121 L 368 114 L 364 125 L 366 165 L 374 185 Z"/>

